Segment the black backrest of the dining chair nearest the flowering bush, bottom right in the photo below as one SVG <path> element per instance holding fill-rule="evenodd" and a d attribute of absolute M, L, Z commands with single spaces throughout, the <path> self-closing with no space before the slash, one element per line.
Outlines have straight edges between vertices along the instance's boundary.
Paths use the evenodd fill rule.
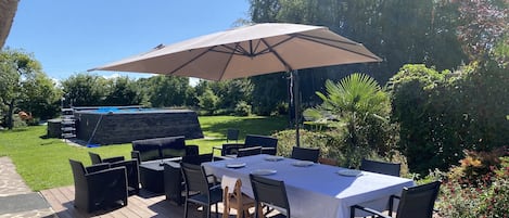
<path fill-rule="evenodd" d="M 431 218 L 441 182 L 405 188 L 397 207 L 396 218 Z"/>

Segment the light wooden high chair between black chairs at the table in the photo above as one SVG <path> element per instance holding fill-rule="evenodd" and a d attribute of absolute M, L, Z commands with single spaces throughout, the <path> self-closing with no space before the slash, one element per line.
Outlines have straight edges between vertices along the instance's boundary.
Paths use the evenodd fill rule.
<path fill-rule="evenodd" d="M 237 218 L 251 217 L 250 208 L 255 207 L 255 202 L 241 191 L 242 180 L 239 178 L 222 176 L 222 218 L 228 218 L 230 209 L 237 210 Z"/>

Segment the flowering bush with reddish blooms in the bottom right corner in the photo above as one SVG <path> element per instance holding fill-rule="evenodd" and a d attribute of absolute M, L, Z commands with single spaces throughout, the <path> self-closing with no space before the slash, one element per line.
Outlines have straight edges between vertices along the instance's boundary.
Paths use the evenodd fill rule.
<path fill-rule="evenodd" d="M 494 158 L 500 155 L 506 156 Z M 509 217 L 509 157 L 506 150 L 467 152 L 460 163 L 449 172 L 433 172 L 432 177 L 444 179 L 436 204 L 440 216 Z"/>

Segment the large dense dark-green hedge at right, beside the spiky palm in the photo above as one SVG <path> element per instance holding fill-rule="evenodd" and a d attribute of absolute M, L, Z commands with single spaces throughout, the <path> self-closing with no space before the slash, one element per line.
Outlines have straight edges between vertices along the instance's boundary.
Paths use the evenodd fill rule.
<path fill-rule="evenodd" d="M 507 69 L 496 63 L 454 74 L 424 65 L 402 67 L 391 80 L 392 119 L 400 126 L 398 146 L 410 170 L 445 170 L 462 158 L 463 150 L 506 145 L 508 82 Z"/>

